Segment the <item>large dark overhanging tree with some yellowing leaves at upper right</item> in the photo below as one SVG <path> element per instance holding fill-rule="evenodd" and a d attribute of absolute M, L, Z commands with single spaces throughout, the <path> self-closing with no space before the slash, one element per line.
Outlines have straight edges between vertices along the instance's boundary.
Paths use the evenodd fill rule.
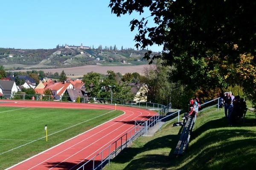
<path fill-rule="evenodd" d="M 130 23 L 131 31 L 138 28 L 135 46 L 163 45 L 162 54 L 152 59 L 166 59 L 176 68 L 170 74 L 174 82 L 192 90 L 238 84 L 247 95 L 255 93 L 254 1 L 111 0 L 109 6 L 118 17 L 148 8 L 149 17 Z M 148 26 L 150 18 L 155 26 Z M 150 54 L 145 58 L 151 59 Z M 256 95 L 252 98 L 256 103 Z"/>

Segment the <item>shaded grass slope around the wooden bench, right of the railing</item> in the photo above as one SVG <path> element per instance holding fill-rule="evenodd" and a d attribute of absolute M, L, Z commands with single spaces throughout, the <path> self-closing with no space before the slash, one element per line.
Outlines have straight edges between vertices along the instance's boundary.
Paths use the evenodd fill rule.
<path fill-rule="evenodd" d="M 172 122 L 173 123 L 173 122 Z M 252 170 L 256 165 L 256 117 L 247 111 L 244 124 L 229 127 L 224 108 L 199 113 L 183 156 L 173 152 L 180 127 L 164 125 L 152 137 L 140 137 L 105 170 Z"/>

